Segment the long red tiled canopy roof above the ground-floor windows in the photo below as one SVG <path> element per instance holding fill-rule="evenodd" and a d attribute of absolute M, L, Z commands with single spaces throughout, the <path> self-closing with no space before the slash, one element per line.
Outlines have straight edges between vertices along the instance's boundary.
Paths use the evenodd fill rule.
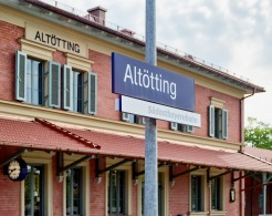
<path fill-rule="evenodd" d="M 54 123 L 50 124 L 60 127 Z M 60 127 L 61 130 L 57 131 L 34 120 L 0 119 L 0 146 L 145 160 L 144 137 L 71 127 Z M 86 143 L 62 133 L 63 130 L 67 134 L 83 138 Z M 94 146 L 101 146 L 101 148 Z M 207 150 L 163 141 L 158 142 L 158 161 L 167 164 L 179 163 L 201 167 L 272 173 L 271 163 L 254 158 L 249 154 Z"/>

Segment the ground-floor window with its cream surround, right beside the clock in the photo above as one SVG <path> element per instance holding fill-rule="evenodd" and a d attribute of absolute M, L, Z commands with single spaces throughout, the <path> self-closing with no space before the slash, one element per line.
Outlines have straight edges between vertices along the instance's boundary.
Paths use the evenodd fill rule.
<path fill-rule="evenodd" d="M 24 153 L 22 158 L 28 164 L 28 175 L 21 182 L 21 215 L 52 215 L 52 155 L 32 151 Z"/>

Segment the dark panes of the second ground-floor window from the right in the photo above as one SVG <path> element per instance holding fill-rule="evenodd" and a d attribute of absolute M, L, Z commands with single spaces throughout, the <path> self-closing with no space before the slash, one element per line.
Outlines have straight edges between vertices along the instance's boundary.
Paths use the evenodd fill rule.
<path fill-rule="evenodd" d="M 203 176 L 191 175 L 191 212 L 203 212 Z"/>

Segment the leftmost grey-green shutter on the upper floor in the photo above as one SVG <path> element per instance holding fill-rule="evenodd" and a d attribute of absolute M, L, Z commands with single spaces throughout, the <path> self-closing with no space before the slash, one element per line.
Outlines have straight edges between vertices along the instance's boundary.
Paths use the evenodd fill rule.
<path fill-rule="evenodd" d="M 15 100 L 27 101 L 27 60 L 25 53 L 15 53 Z"/>

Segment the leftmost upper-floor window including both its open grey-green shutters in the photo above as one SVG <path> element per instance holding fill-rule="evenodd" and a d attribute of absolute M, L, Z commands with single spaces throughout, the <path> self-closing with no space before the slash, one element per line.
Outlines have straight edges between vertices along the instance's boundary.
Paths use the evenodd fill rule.
<path fill-rule="evenodd" d="M 60 64 L 15 53 L 15 99 L 60 107 Z"/>

